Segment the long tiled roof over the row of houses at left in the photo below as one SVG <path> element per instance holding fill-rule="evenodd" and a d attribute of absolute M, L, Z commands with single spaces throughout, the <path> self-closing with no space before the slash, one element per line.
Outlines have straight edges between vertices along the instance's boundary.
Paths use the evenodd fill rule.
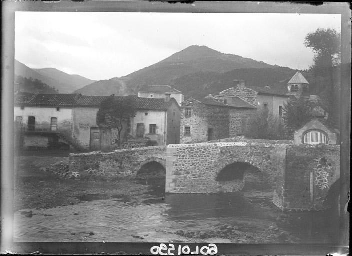
<path fill-rule="evenodd" d="M 81 94 L 27 94 L 15 95 L 17 105 L 42 105 L 42 106 L 65 106 L 65 107 L 99 107 L 101 102 L 108 96 L 85 96 Z M 137 109 L 144 110 L 165 110 L 172 102 L 177 104 L 174 98 L 165 102 L 163 98 L 141 98 L 137 96 L 127 96 L 135 100 Z M 116 96 L 116 98 L 124 98 Z M 178 105 L 178 104 L 177 104 Z"/>

